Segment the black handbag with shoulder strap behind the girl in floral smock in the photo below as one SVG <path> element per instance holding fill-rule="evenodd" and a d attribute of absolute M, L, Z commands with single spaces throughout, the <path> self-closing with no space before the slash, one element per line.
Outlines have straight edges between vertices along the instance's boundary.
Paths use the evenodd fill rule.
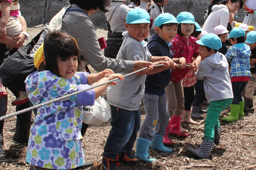
<path fill-rule="evenodd" d="M 12 91 L 26 91 L 24 81 L 29 74 L 37 71 L 34 58 L 30 57 L 29 53 L 43 31 L 38 33 L 26 46 L 19 48 L 0 66 L 0 77 L 4 87 Z"/>

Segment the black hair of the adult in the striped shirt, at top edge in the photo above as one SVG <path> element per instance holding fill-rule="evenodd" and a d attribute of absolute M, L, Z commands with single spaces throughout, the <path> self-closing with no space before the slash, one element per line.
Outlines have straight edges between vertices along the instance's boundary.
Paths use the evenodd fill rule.
<path fill-rule="evenodd" d="M 83 0 L 69 0 L 70 4 L 76 4 L 83 10 L 100 10 L 102 12 L 108 12 L 106 7 L 110 5 L 110 0 L 93 0 L 93 1 L 83 1 Z"/>

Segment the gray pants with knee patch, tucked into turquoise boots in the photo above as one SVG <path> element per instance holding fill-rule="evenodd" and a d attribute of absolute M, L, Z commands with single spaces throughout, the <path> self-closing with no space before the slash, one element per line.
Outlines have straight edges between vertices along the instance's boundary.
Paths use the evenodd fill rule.
<path fill-rule="evenodd" d="M 142 122 L 139 138 L 153 141 L 154 133 L 165 135 L 169 123 L 170 114 L 167 107 L 167 98 L 163 96 L 146 94 L 143 97 L 143 105 L 146 117 Z"/>

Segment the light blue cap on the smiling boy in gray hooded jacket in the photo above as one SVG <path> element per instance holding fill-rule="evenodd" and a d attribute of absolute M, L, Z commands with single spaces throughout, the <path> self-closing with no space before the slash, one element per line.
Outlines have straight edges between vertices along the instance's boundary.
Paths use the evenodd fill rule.
<path fill-rule="evenodd" d="M 134 8 L 127 13 L 126 23 L 150 23 L 149 14 L 146 10 L 143 10 L 141 8 Z"/>

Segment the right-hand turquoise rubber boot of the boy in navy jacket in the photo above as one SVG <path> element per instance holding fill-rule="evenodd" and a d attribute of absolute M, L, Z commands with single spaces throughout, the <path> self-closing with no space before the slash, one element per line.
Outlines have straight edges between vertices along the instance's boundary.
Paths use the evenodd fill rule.
<path fill-rule="evenodd" d="M 164 146 L 164 143 L 163 143 L 163 135 L 161 134 L 155 134 L 154 133 L 154 139 L 151 143 L 151 148 L 154 149 L 154 150 L 158 150 L 159 152 L 162 152 L 162 153 L 171 153 L 172 152 L 172 149 L 171 148 L 167 148 Z"/>

